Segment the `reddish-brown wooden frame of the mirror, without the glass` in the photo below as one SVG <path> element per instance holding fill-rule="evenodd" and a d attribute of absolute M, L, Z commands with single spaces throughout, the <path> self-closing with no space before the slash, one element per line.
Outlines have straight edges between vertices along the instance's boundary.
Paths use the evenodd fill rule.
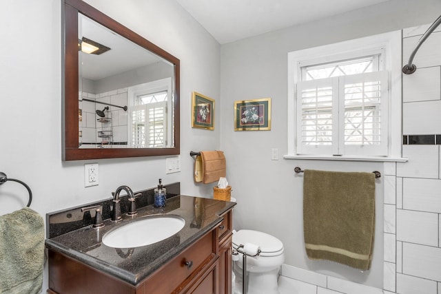
<path fill-rule="evenodd" d="M 163 59 L 174 65 L 174 147 L 79 149 L 79 13 L 89 17 L 97 23 L 100 23 L 101 25 L 105 26 L 105 28 L 116 32 L 116 34 L 125 37 L 146 50 L 161 56 Z M 63 41 L 63 160 L 87 160 L 180 154 L 179 59 L 81 0 L 64 1 Z"/>

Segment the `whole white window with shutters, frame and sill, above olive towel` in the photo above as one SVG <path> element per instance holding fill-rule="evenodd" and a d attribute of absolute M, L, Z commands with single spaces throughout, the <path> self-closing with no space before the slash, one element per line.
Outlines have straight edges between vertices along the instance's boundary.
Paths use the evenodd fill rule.
<path fill-rule="evenodd" d="M 387 36 L 386 36 L 387 35 Z M 323 158 L 390 157 L 392 122 L 389 86 L 394 59 L 383 34 L 289 53 L 289 155 Z M 348 48 L 351 48 L 348 50 Z M 399 71 L 399 70 L 398 70 Z M 400 76 L 400 74 L 399 74 Z M 398 96 L 400 85 L 393 94 Z M 400 112 L 400 110 L 398 110 Z M 400 132 L 400 131 L 398 131 Z M 396 156 L 398 154 L 394 154 Z"/>

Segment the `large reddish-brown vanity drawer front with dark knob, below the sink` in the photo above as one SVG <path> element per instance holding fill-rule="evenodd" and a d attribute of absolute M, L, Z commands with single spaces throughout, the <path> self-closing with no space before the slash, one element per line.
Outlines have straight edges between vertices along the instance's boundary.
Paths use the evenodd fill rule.
<path fill-rule="evenodd" d="M 145 293 L 163 294 L 179 292 L 179 288 L 185 286 L 185 280 L 188 277 L 201 271 L 203 266 L 216 257 L 214 249 L 212 231 L 188 249 L 185 249 L 183 253 L 176 256 L 176 258 L 165 264 L 161 269 L 158 269 L 147 280 Z"/>

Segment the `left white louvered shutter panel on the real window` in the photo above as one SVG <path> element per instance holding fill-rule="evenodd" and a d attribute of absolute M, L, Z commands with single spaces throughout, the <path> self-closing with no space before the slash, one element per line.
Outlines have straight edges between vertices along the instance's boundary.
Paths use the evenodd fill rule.
<path fill-rule="evenodd" d="M 298 82 L 296 112 L 297 154 L 335 154 L 338 78 Z"/>

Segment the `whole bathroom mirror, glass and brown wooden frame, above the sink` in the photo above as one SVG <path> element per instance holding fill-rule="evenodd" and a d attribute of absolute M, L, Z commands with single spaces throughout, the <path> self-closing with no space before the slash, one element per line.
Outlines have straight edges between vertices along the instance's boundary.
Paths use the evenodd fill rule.
<path fill-rule="evenodd" d="M 63 41 L 64 160 L 179 154 L 179 59 L 80 0 Z"/>

